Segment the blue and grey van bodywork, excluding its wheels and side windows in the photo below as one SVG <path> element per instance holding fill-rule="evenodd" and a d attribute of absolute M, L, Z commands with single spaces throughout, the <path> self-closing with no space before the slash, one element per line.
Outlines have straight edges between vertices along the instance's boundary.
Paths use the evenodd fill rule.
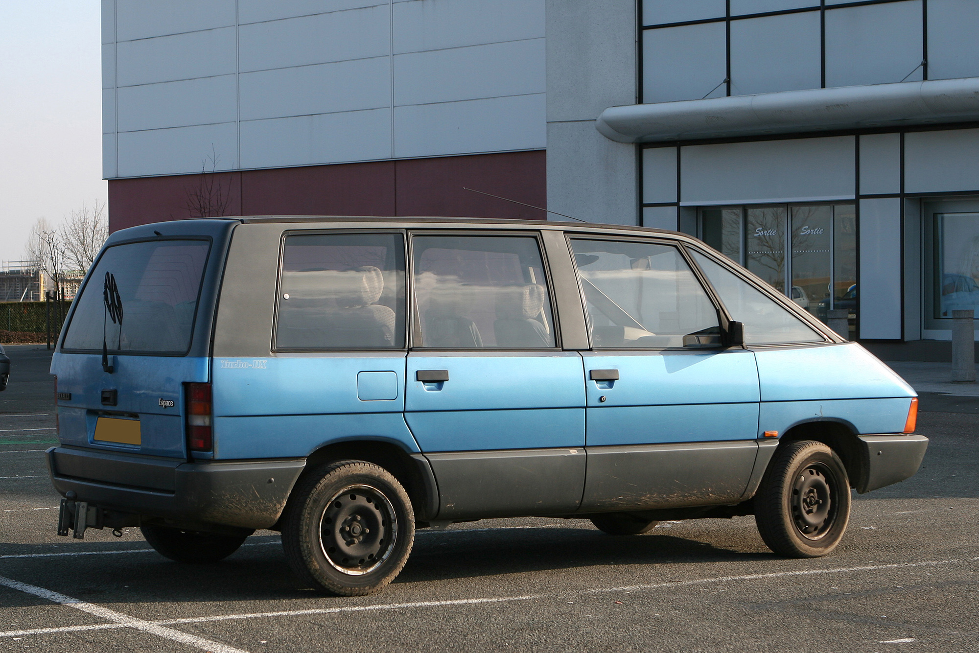
<path fill-rule="evenodd" d="M 396 327 L 403 340 L 396 336 L 389 347 L 361 350 L 277 346 L 284 342 L 287 308 L 320 301 L 283 292 L 293 283 L 283 272 L 284 243 L 303 234 L 375 231 L 404 239 L 415 276 L 405 273 L 399 290 L 386 281 L 382 292 L 390 291 L 388 299 L 336 310 L 396 313 L 400 321 L 392 323 L 403 323 Z M 502 343 L 506 329 L 531 324 L 533 333 L 551 343 L 425 346 L 420 334 L 426 320 L 435 319 L 436 301 L 428 312 L 419 307 L 428 277 L 418 272 L 422 255 L 411 243 L 420 234 L 443 233 L 532 239 L 542 260 L 536 272 L 523 267 L 532 281 L 501 283 L 494 292 L 499 298 L 516 288 L 526 299 L 539 292 L 535 286 L 549 298 L 540 309 L 549 312 L 539 317 L 513 317 L 497 298 L 489 317 L 480 317 L 477 307 L 468 313 L 476 316 L 472 324 L 453 318 L 451 324 L 462 324 L 453 333 L 475 334 L 480 327 L 479 337 L 489 340 L 495 328 Z M 657 316 L 658 330 L 623 327 L 622 333 L 639 333 L 628 347 L 595 347 L 589 334 L 596 318 L 588 312 L 568 245 L 585 237 L 648 241 L 682 254 L 677 259 L 686 261 L 690 278 L 699 280 L 705 302 L 711 302 L 704 319 L 714 320 L 714 331 L 708 329 L 703 342 L 684 340 L 683 346 L 636 346 L 641 339 L 665 337 L 669 325 L 682 321 L 667 310 Z M 174 254 L 158 257 L 161 243 Z M 138 268 L 144 270 L 142 281 L 120 271 L 142 264 L 120 254 L 134 244 L 161 261 Z M 810 333 L 809 340 L 753 345 L 750 329 L 743 343 L 728 337 L 745 316 L 723 302 L 688 251 L 710 257 L 751 285 L 772 310 L 793 320 L 792 328 Z M 860 491 L 909 477 L 927 444 L 905 433 L 915 393 L 886 365 L 699 241 L 674 232 L 464 219 L 202 219 L 118 231 L 103 256 L 117 257 L 119 267 L 93 266 L 81 296 L 94 299 L 72 306 L 52 361 L 60 444 L 48 452 L 55 488 L 99 506 L 100 525 L 165 521 L 202 531 L 277 528 L 303 473 L 351 457 L 390 470 L 423 526 L 626 510 L 745 514 L 736 511 L 750 505 L 783 443 L 803 437 L 828 443 Z M 635 269 L 649 264 L 640 261 Z M 193 274 L 186 271 L 194 265 Z M 350 268 L 310 265 L 297 268 L 296 275 L 355 276 L 364 266 Z M 536 276 L 540 270 L 546 281 Z M 362 278 L 356 279 L 372 273 L 357 271 Z M 197 295 L 163 279 L 167 274 L 199 279 Z M 117 281 L 110 282 L 110 275 Z M 157 275 L 153 283 L 170 284 L 169 290 L 153 286 L 147 275 Z M 107 290 L 112 283 L 124 287 L 116 331 Z M 190 299 L 164 297 L 178 292 Z M 144 325 L 143 331 L 130 338 L 126 320 Z M 198 425 L 192 387 L 210 393 L 210 413 L 202 415 L 210 425 L 207 445 L 192 438 Z"/>

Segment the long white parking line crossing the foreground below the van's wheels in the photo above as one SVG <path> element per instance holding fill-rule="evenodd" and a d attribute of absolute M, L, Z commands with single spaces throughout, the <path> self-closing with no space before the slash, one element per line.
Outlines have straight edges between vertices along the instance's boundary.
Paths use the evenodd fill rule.
<path fill-rule="evenodd" d="M 277 543 L 277 542 L 262 542 L 262 543 Z M 144 549 L 137 549 L 137 550 L 144 550 Z M 976 560 L 979 560 L 979 556 L 970 558 L 968 562 L 974 562 Z M 906 562 L 906 563 L 895 563 L 891 565 L 867 565 L 862 567 L 837 567 L 833 569 L 810 569 L 810 570 L 800 570 L 795 572 L 774 572 L 771 574 L 746 574 L 743 576 L 721 576 L 721 577 L 715 577 L 710 579 L 696 579 L 691 581 L 672 581 L 667 583 L 648 583 L 648 584 L 639 584 L 639 585 L 628 585 L 625 587 L 582 589 L 582 590 L 562 592 L 562 593 L 550 592 L 550 593 L 543 593 L 543 594 L 527 594 L 523 596 L 494 596 L 488 598 L 464 598 L 464 599 L 450 599 L 444 601 L 413 601 L 408 603 L 379 603 L 374 605 L 343 606 L 337 608 L 311 608 L 307 610 L 280 610 L 276 612 L 252 612 L 252 613 L 240 613 L 240 614 L 230 614 L 230 615 L 211 615 L 210 617 L 185 617 L 182 619 L 161 619 L 153 622 L 143 622 L 143 623 L 152 626 L 163 627 L 163 626 L 173 626 L 177 624 L 205 624 L 209 622 L 232 621 L 232 620 L 241 620 L 241 619 L 298 617 L 303 615 L 328 615 L 328 614 L 337 614 L 337 613 L 345 613 L 345 612 L 368 612 L 373 610 L 401 610 L 401 609 L 429 608 L 429 607 L 440 607 L 440 606 L 451 606 L 451 605 L 478 605 L 482 603 L 508 603 L 513 601 L 528 601 L 537 598 L 554 598 L 557 596 L 564 596 L 567 594 L 594 594 L 599 592 L 613 592 L 613 591 L 628 592 L 628 591 L 636 591 L 640 589 L 662 589 L 666 587 L 680 587 L 684 585 L 731 583 L 735 581 L 760 581 L 760 580 L 791 577 L 791 576 L 814 576 L 818 574 L 846 574 L 849 572 L 879 571 L 882 569 L 907 569 L 909 567 L 934 567 L 938 565 L 949 565 L 956 562 L 963 562 L 963 561 L 958 559 L 928 560 L 924 562 Z M 0 577 L 0 584 L 8 584 L 5 583 L 5 581 L 9 581 L 9 580 Z M 17 583 L 17 582 L 14 581 L 11 583 Z M 8 584 L 8 586 L 13 586 L 13 585 Z M 19 587 L 15 587 L 15 588 L 19 588 Z M 41 588 L 38 587 L 38 589 Z M 47 590 L 42 590 L 42 591 L 47 591 Z M 61 596 L 61 594 L 59 594 L 59 596 Z M 126 617 L 126 618 L 133 619 L 130 617 Z M 100 630 L 100 629 L 119 628 L 117 624 L 121 624 L 121 622 L 118 622 L 117 620 L 112 620 L 112 621 L 116 623 L 86 625 L 86 626 L 76 626 L 76 627 L 64 626 L 64 627 L 59 627 L 58 629 L 7 630 L 7 631 L 0 631 L 0 637 L 21 636 L 25 634 L 42 634 L 45 632 L 54 632 L 54 631 L 66 632 L 66 631 L 74 631 L 74 630 Z M 136 621 L 142 621 L 142 620 L 136 620 Z M 121 627 L 130 628 L 127 624 L 122 624 Z M 136 627 L 131 627 L 131 628 L 136 628 Z M 904 643 L 904 641 L 889 640 L 880 643 Z"/>

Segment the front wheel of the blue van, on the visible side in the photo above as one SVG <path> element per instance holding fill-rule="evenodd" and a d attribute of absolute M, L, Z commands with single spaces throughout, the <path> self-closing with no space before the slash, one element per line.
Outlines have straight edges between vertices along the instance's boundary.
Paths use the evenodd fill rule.
<path fill-rule="evenodd" d="M 817 558 L 840 543 L 850 521 L 850 481 L 823 443 L 789 443 L 775 453 L 755 496 L 755 523 L 775 553 Z"/>

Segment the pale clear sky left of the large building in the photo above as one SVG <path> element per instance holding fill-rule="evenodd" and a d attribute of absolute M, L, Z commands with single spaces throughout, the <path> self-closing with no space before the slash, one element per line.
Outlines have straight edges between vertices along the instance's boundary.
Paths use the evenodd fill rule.
<path fill-rule="evenodd" d="M 0 260 L 39 216 L 107 199 L 101 3 L 0 0 Z"/>

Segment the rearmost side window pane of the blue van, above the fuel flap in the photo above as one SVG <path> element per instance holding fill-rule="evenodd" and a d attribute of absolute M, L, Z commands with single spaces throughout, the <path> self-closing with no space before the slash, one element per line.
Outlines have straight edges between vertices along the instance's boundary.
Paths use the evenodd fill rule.
<path fill-rule="evenodd" d="M 402 236 L 287 236 L 278 304 L 276 349 L 403 348 Z"/>

